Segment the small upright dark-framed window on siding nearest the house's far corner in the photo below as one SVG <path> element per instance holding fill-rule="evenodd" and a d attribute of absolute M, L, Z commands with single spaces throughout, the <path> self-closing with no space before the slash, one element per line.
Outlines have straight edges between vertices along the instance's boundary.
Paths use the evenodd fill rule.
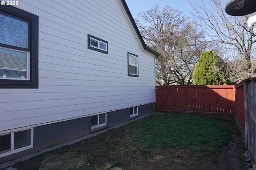
<path fill-rule="evenodd" d="M 128 53 L 128 76 L 138 77 L 138 55 Z"/>

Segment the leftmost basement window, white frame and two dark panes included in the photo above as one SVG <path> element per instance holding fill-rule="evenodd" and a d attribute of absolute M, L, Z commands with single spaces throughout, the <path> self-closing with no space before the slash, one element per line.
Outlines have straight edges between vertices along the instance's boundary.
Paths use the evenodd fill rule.
<path fill-rule="evenodd" d="M 0 135 L 0 157 L 33 147 L 33 129 Z"/>

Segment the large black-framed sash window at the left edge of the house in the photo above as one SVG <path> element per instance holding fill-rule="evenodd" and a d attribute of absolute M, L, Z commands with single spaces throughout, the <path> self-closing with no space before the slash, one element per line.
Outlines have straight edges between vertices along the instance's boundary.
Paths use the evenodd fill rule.
<path fill-rule="evenodd" d="M 0 8 L 0 88 L 38 88 L 38 16 Z"/>

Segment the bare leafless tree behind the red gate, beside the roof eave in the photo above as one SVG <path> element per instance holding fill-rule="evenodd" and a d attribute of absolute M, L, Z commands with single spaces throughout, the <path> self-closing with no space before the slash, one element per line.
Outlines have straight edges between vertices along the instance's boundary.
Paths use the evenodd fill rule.
<path fill-rule="evenodd" d="M 203 31 L 176 8 L 157 4 L 135 19 L 145 43 L 160 53 L 156 62 L 159 85 L 191 84 L 197 59 L 206 45 Z"/>

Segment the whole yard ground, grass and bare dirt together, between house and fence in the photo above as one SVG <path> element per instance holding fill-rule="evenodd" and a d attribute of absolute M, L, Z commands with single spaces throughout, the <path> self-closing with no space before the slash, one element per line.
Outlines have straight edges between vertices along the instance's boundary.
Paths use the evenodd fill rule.
<path fill-rule="evenodd" d="M 96 170 L 106 165 L 123 170 L 138 167 L 241 169 L 245 166 L 241 156 L 244 145 L 234 122 L 192 114 L 154 113 L 18 163 L 14 168 L 25 170 L 32 164 L 32 169 L 38 170 L 48 156 L 58 158 L 67 152 L 74 153 L 75 158 L 82 157 L 84 165 L 80 170 Z M 232 162 L 233 167 L 226 162 Z"/>

